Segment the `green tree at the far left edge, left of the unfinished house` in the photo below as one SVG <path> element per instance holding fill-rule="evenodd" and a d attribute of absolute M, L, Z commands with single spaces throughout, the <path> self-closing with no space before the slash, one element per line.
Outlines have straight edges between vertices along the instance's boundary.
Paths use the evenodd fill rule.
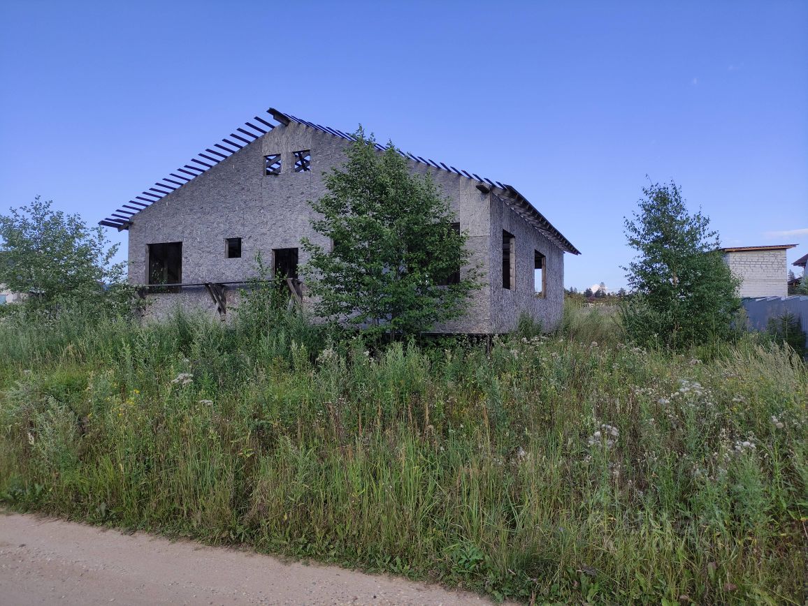
<path fill-rule="evenodd" d="M 30 295 L 29 307 L 130 304 L 125 263 L 112 262 L 118 245 L 109 245 L 103 228 L 88 228 L 79 215 L 52 206 L 36 196 L 0 215 L 0 282 Z"/>

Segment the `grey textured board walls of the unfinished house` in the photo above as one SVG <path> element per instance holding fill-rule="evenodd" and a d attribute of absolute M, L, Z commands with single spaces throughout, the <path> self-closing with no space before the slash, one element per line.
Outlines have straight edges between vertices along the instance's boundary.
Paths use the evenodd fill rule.
<path fill-rule="evenodd" d="M 183 242 L 183 282 L 230 282 L 255 275 L 255 254 L 271 262 L 271 250 L 300 248 L 303 236 L 322 245 L 328 242 L 309 224 L 309 200 L 326 193 L 322 173 L 345 160 L 345 140 L 298 123 L 276 127 L 238 153 L 208 169 L 133 217 L 129 229 L 129 280 L 146 280 L 147 245 Z M 311 150 L 311 170 L 294 173 L 292 152 Z M 280 153 L 279 175 L 264 175 L 263 156 Z M 414 172 L 427 167 L 411 163 Z M 563 253 L 507 208 L 500 199 L 482 194 L 476 182 L 443 170 L 431 169 L 452 210 L 469 232 L 473 265 L 480 265 L 486 286 L 474 295 L 469 312 L 459 320 L 433 328 L 436 332 L 507 332 L 520 313 L 557 324 L 563 301 Z M 516 289 L 502 288 L 502 230 L 516 236 Z M 242 257 L 225 258 L 225 238 L 242 238 Z M 533 295 L 533 250 L 547 258 L 547 295 Z M 300 264 L 308 257 L 300 250 Z M 490 278 L 490 279 L 489 279 Z M 236 297 L 229 289 L 228 303 Z M 151 295 L 149 316 L 159 317 L 175 305 L 202 309 L 215 316 L 213 301 L 204 288 L 179 294 Z"/>

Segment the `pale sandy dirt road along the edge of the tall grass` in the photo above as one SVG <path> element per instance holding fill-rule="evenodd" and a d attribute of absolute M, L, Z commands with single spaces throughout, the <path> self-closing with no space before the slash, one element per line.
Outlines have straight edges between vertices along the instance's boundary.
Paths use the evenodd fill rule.
<path fill-rule="evenodd" d="M 490 604 L 335 566 L 0 512 L 0 604 Z"/>

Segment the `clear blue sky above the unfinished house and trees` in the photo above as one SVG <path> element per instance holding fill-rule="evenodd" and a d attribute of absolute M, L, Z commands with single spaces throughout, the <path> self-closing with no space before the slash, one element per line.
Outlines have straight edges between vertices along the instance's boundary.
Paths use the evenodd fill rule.
<path fill-rule="evenodd" d="M 95 224 L 272 106 L 516 186 L 567 286 L 625 284 L 646 174 L 808 253 L 808 2 L 0 0 L 0 76 L 0 212 Z"/>

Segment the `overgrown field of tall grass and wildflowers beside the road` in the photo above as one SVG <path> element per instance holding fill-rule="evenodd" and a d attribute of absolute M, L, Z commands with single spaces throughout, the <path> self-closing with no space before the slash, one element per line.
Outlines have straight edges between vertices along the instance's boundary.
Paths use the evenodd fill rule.
<path fill-rule="evenodd" d="M 368 351 L 299 316 L 0 323 L 0 499 L 525 602 L 802 603 L 808 372 L 568 310 Z"/>

